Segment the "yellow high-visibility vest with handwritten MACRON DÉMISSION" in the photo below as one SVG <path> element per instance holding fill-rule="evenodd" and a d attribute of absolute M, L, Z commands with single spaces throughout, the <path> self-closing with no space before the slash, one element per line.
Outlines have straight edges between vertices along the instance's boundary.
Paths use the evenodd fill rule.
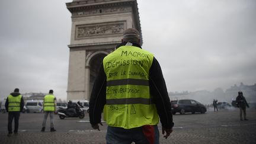
<path fill-rule="evenodd" d="M 103 59 L 107 76 L 104 119 L 108 126 L 132 129 L 159 122 L 149 92 L 153 54 L 135 46 L 121 46 Z"/>

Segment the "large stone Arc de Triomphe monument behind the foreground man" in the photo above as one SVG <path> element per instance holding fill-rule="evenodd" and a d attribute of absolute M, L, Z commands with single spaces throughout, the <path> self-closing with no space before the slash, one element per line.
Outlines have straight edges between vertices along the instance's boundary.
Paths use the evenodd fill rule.
<path fill-rule="evenodd" d="M 69 47 L 68 100 L 89 100 L 103 58 L 121 41 L 124 30 L 140 31 L 136 0 L 73 0 Z"/>

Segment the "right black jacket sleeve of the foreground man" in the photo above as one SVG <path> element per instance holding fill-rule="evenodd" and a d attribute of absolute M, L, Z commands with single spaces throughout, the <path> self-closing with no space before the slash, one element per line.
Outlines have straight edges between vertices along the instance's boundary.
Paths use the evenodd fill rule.
<path fill-rule="evenodd" d="M 169 100 L 164 76 L 158 61 L 153 59 L 151 69 L 149 70 L 149 88 L 153 101 L 156 105 L 162 127 L 170 129 L 174 126 L 172 122 L 171 102 Z"/>

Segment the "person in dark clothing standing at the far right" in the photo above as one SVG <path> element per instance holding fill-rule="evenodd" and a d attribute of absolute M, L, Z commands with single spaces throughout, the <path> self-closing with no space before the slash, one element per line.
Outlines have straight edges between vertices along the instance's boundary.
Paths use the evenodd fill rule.
<path fill-rule="evenodd" d="M 245 100 L 245 97 L 244 97 L 242 91 L 238 92 L 238 96 L 236 97 L 236 104 L 240 109 L 240 120 L 243 120 L 242 119 L 243 112 L 244 112 L 244 120 L 248 120 L 246 118 L 246 107 L 249 108 L 249 105 L 248 105 L 247 101 Z"/>

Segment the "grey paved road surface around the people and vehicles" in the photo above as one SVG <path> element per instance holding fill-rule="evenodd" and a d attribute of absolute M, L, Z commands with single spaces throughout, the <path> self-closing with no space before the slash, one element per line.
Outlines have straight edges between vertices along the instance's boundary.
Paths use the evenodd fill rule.
<path fill-rule="evenodd" d="M 174 132 L 168 139 L 160 135 L 160 143 L 256 143 L 256 110 L 247 110 L 248 121 L 239 120 L 238 108 L 208 110 L 206 114 L 175 114 Z M 0 114 L 0 143 L 105 143 L 106 123 L 100 131 L 92 130 L 89 116 L 84 119 L 55 115 L 55 129 L 40 132 L 42 113 L 21 113 L 18 135 L 7 136 L 8 114 Z M 13 124 L 14 126 L 14 124 Z M 161 132 L 161 124 L 159 124 Z"/>

